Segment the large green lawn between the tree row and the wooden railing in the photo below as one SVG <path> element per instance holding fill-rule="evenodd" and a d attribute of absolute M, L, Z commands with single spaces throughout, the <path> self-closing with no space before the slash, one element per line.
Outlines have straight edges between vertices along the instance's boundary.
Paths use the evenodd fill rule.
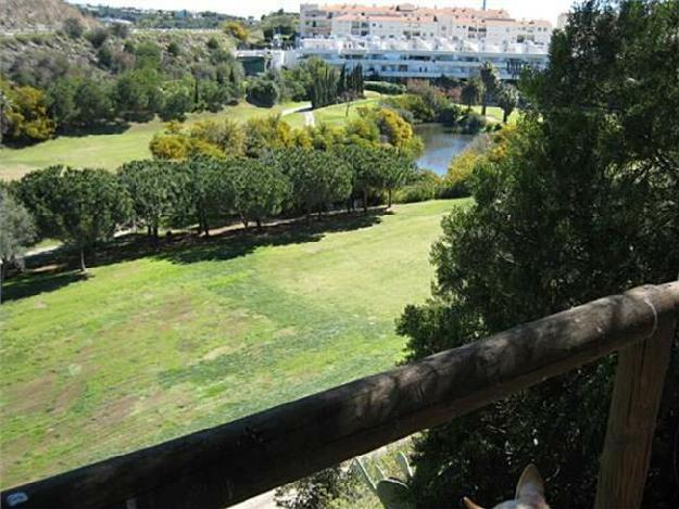
<path fill-rule="evenodd" d="M 466 203 L 100 254 L 88 279 L 11 279 L 2 487 L 392 367 L 394 319 L 428 296 L 440 219 Z"/>

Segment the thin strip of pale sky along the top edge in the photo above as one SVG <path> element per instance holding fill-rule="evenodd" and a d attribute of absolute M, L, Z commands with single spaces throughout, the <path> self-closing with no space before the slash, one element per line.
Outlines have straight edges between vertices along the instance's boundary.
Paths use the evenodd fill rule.
<path fill-rule="evenodd" d="M 299 0 L 71 0 L 77 3 L 101 3 L 115 7 L 138 7 L 146 9 L 166 9 L 189 11 L 216 11 L 239 16 L 260 16 L 263 13 L 285 9 L 298 11 Z M 399 0 L 305 0 L 307 3 L 364 3 L 393 4 L 405 3 Z M 480 7 L 482 0 L 410 0 L 410 3 L 428 7 Z M 556 23 L 556 16 L 568 11 L 573 0 L 488 0 L 489 9 L 506 9 L 514 17 L 536 17 Z"/>

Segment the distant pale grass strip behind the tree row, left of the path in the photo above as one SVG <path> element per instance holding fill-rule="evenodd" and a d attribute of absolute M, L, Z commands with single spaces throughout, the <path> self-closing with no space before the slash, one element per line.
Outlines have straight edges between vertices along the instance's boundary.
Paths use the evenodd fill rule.
<path fill-rule="evenodd" d="M 281 113 L 304 104 L 306 103 L 292 102 L 267 109 L 243 102 L 236 106 L 227 106 L 219 113 L 190 115 L 188 122 L 223 115 L 244 122 L 254 116 Z M 33 169 L 53 164 L 115 169 L 128 161 L 151 157 L 149 142 L 162 128 L 162 122 L 155 119 L 144 124 L 133 124 L 118 133 L 62 136 L 23 149 L 0 149 L 0 179 L 21 178 Z"/>

